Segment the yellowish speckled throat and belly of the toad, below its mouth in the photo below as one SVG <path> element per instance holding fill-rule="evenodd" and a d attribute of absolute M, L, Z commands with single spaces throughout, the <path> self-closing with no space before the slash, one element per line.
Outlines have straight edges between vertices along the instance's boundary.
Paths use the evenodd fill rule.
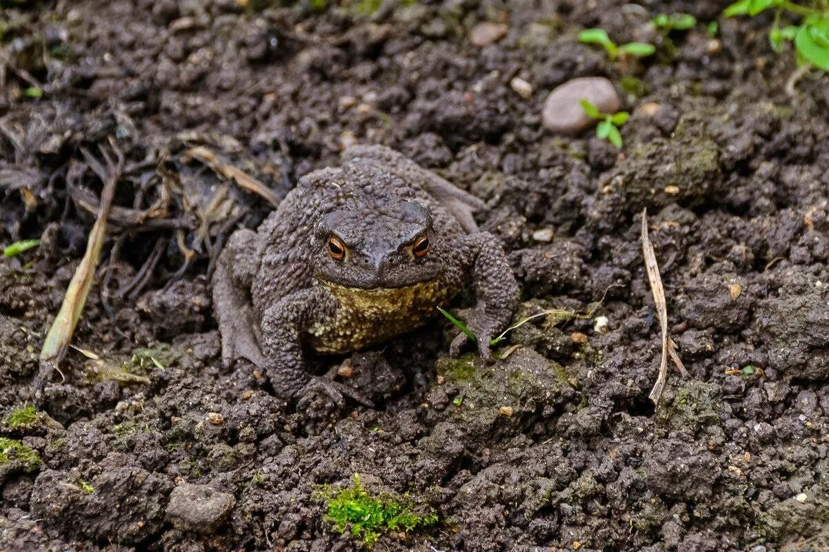
<path fill-rule="evenodd" d="M 341 307 L 308 330 L 320 352 L 357 351 L 419 327 L 438 313 L 436 307 L 455 292 L 444 283 L 425 282 L 405 288 L 361 289 L 323 283 Z"/>

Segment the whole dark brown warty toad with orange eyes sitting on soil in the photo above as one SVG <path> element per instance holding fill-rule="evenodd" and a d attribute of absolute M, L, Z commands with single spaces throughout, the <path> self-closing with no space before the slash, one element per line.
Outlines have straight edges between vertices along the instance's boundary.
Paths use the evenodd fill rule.
<path fill-rule="evenodd" d="M 221 254 L 213 300 L 223 361 L 264 367 L 286 398 L 322 391 L 342 404 L 342 388 L 304 370 L 303 342 L 328 353 L 371 346 L 421 326 L 468 283 L 478 304 L 466 323 L 491 360 L 488 343 L 518 290 L 501 244 L 478 232 L 481 205 L 379 146 L 351 148 L 342 167 L 303 177 L 258 232 L 235 232 Z"/>

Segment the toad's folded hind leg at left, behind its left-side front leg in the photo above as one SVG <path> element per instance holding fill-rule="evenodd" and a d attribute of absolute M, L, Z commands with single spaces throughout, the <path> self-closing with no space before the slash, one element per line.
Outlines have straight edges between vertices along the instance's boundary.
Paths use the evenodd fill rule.
<path fill-rule="evenodd" d="M 238 230 L 230 236 L 219 255 L 213 273 L 213 309 L 221 333 L 221 361 L 231 366 L 241 358 L 264 366 L 256 337 L 258 327 L 250 285 L 258 269 L 257 236 L 252 230 Z"/>

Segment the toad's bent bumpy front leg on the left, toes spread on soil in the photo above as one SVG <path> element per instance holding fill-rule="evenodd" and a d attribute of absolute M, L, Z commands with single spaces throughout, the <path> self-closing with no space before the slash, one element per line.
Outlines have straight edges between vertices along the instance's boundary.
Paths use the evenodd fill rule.
<path fill-rule="evenodd" d="M 307 288 L 279 300 L 262 316 L 262 350 L 268 378 L 277 395 L 288 400 L 316 404 L 315 395 L 327 395 L 338 407 L 344 396 L 373 406 L 345 385 L 308 374 L 303 356 L 303 335 L 314 324 L 333 317 L 339 307 L 324 288 Z"/>

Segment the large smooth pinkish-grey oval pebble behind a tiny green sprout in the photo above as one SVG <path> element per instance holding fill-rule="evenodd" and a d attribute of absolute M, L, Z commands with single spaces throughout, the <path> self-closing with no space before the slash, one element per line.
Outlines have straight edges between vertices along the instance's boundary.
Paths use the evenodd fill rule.
<path fill-rule="evenodd" d="M 556 86 L 544 102 L 541 120 L 554 133 L 574 134 L 596 122 L 584 114 L 579 100 L 587 99 L 599 111 L 614 114 L 621 102 L 613 83 L 604 77 L 579 77 Z"/>

